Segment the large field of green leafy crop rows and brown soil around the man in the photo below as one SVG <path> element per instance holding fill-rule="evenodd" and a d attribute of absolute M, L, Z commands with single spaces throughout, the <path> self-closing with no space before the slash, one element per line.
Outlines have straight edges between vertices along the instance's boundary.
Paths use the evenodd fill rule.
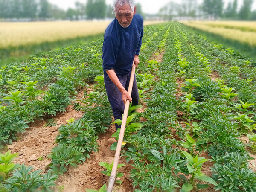
<path fill-rule="evenodd" d="M 255 192 L 256 61 L 177 22 L 144 30 L 140 106 L 129 113 L 114 191 Z M 0 69 L 1 156 L 9 157 L 0 160 L 0 191 L 105 191 L 118 132 L 102 42 Z"/>

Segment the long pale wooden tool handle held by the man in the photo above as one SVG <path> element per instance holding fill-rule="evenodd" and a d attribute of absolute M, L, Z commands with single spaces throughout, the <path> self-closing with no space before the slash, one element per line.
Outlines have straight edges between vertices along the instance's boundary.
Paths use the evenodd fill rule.
<path fill-rule="evenodd" d="M 128 87 L 129 96 L 131 96 L 131 90 L 132 90 L 132 86 L 133 86 L 133 82 L 134 82 L 135 69 L 136 69 L 136 66 L 134 64 L 131 69 L 131 78 L 130 78 L 129 87 Z M 115 159 L 114 159 L 111 175 L 109 177 L 108 192 L 112 192 L 112 189 L 113 189 L 113 186 L 114 186 L 114 183 L 116 180 L 116 170 L 117 170 L 120 152 L 121 152 L 121 148 L 122 148 L 122 142 L 123 142 L 123 138 L 124 138 L 124 134 L 125 134 L 125 125 L 126 125 L 126 121 L 127 121 L 127 117 L 128 117 L 129 106 L 130 106 L 130 101 L 126 100 L 124 116 L 122 119 L 121 130 L 120 130 L 119 139 L 118 139 L 118 143 L 117 143 L 117 147 L 116 147 Z"/>

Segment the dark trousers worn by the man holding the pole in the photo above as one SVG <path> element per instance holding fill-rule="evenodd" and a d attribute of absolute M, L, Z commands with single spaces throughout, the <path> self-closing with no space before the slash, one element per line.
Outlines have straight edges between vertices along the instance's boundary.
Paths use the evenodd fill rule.
<path fill-rule="evenodd" d="M 131 71 L 125 75 L 125 76 L 117 76 L 120 83 L 123 87 L 128 91 L 130 77 L 131 77 Z M 104 71 L 104 83 L 108 95 L 108 101 L 111 104 L 113 115 L 115 120 L 121 119 L 122 120 L 122 114 L 125 110 L 124 102 L 122 101 L 122 93 L 119 91 L 119 89 L 116 87 L 116 85 L 111 81 L 109 78 L 107 72 Z M 132 98 L 132 105 L 138 105 L 139 103 L 139 92 L 137 88 L 137 83 L 134 75 L 134 83 L 132 87 L 131 92 L 131 98 Z M 116 124 L 116 129 L 121 128 L 121 125 Z"/>

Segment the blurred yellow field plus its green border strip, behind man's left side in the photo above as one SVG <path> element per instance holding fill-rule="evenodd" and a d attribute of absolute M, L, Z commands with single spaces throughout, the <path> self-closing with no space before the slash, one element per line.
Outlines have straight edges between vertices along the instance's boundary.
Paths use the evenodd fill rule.
<path fill-rule="evenodd" d="M 0 22 L 0 65 L 99 38 L 110 21 Z M 145 25 L 159 23 L 145 21 Z M 93 39 L 94 40 L 94 39 Z M 2 61 L 1 61 L 2 60 Z M 17 60 L 19 61 L 19 60 Z"/>

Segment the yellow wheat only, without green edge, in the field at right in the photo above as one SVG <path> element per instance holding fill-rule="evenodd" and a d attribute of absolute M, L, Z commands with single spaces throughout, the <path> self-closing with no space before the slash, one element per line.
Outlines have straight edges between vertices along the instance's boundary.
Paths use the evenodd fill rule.
<path fill-rule="evenodd" d="M 252 29 L 256 30 L 256 22 L 239 22 L 239 21 L 223 21 L 223 22 L 204 22 L 204 21 L 186 21 L 181 22 L 186 26 L 191 28 L 199 29 L 202 31 L 214 33 L 217 35 L 221 35 L 224 38 L 230 40 L 236 40 L 241 43 L 249 44 L 250 46 L 256 46 L 256 32 L 253 32 Z M 234 26 L 233 29 L 231 27 L 225 26 Z M 241 30 L 238 27 L 249 28 L 248 31 Z M 251 29 L 251 30 L 250 30 Z"/>

